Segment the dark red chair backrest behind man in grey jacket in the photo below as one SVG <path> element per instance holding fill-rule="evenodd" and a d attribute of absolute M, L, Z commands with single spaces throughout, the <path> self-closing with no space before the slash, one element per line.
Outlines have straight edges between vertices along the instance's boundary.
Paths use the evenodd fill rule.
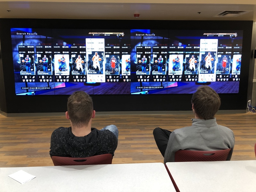
<path fill-rule="evenodd" d="M 179 150 L 175 153 L 175 162 L 184 161 L 226 161 L 231 149 L 219 151 Z"/>

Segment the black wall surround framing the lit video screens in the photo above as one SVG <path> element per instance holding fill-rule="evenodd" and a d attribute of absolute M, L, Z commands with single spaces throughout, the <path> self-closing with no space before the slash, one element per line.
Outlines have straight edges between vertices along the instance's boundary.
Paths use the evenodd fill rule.
<path fill-rule="evenodd" d="M 171 26 L 179 30 L 188 29 L 192 23 L 196 23 L 196 29 L 199 30 L 243 30 L 243 69 L 240 74 L 240 86 L 238 93 L 221 94 L 222 110 L 246 109 L 248 80 L 253 71 L 249 71 L 252 63 L 251 58 L 251 40 L 253 21 L 173 21 L 173 20 L 60 20 L 60 19 L 0 19 L 0 40 L 1 40 L 1 65 L 3 68 L 4 84 L 1 84 L 4 97 L 1 103 L 1 111 L 6 113 L 35 113 L 35 112 L 63 112 L 66 110 L 68 95 L 15 95 L 13 66 L 6 64 L 8 58 L 12 58 L 11 46 L 11 28 L 82 28 L 91 26 L 93 23 L 99 23 L 99 29 L 110 29 L 109 23 L 118 23 L 118 28 L 128 29 L 145 28 L 157 29 L 161 26 L 163 29 L 170 29 Z M 211 25 L 205 23 L 210 22 Z M 56 26 L 56 23 L 58 25 Z M 143 25 L 141 25 L 143 23 Z M 3 27 L 4 26 L 4 27 Z M 250 88 L 251 89 L 251 88 Z M 196 91 L 196 89 L 195 89 Z M 192 94 L 148 94 L 148 95 L 92 95 L 94 108 L 96 111 L 186 111 L 191 110 Z M 47 100 L 47 104 L 40 102 Z M 147 105 L 141 104 L 141 100 Z M 152 102 L 154 101 L 154 102 Z M 177 102 L 178 101 L 178 102 Z M 149 104 L 150 103 L 150 104 Z"/>

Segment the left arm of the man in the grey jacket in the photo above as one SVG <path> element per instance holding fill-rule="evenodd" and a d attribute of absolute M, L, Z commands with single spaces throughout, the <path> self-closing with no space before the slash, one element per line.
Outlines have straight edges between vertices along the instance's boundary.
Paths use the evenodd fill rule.
<path fill-rule="evenodd" d="M 175 152 L 178 150 L 180 150 L 180 141 L 176 133 L 172 132 L 164 153 L 164 164 L 167 162 L 174 162 Z"/>

